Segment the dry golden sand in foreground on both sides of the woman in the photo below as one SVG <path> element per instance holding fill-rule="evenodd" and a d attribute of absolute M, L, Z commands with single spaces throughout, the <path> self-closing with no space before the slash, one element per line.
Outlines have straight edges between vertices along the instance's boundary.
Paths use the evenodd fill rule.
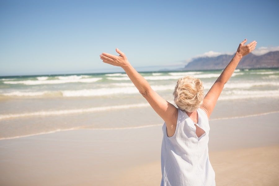
<path fill-rule="evenodd" d="M 211 152 L 216 185 L 279 185 L 279 145 Z M 160 185 L 160 162 L 137 166 L 119 175 L 116 185 Z"/>

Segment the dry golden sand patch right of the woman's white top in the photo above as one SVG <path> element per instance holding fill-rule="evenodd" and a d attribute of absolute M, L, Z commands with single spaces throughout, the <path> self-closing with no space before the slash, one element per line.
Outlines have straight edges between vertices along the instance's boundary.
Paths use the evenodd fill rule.
<path fill-rule="evenodd" d="M 216 185 L 279 185 L 279 145 L 210 153 Z"/>

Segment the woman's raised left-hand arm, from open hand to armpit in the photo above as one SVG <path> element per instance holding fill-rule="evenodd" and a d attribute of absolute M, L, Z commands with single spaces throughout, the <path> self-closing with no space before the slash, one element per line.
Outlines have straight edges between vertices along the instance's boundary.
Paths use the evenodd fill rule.
<path fill-rule="evenodd" d="M 166 122 L 167 135 L 172 136 L 176 130 L 178 109 L 173 104 L 164 100 L 151 88 L 146 79 L 132 67 L 123 52 L 119 49 L 116 49 L 116 52 L 119 56 L 102 53 L 100 58 L 104 63 L 119 66 L 124 69 L 135 87 L 139 90 L 139 93 L 143 95 L 155 112 Z"/>

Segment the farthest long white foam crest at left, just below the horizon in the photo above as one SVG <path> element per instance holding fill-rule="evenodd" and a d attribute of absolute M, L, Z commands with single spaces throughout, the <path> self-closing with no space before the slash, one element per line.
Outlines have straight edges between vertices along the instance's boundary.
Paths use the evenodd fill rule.
<path fill-rule="evenodd" d="M 62 77 L 62 76 L 61 76 Z M 43 84 L 63 84 L 63 83 L 92 83 L 102 78 L 82 78 L 82 79 L 52 79 L 52 80 L 24 80 L 24 81 L 4 81 L 5 84 L 43 85 Z"/>

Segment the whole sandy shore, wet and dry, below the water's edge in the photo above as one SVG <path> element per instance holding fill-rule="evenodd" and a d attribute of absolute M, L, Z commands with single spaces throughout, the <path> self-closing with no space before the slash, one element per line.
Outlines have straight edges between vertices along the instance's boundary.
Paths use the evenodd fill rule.
<path fill-rule="evenodd" d="M 279 185 L 278 119 L 210 121 L 216 185 Z M 0 185 L 159 185 L 161 127 L 0 140 Z"/>

